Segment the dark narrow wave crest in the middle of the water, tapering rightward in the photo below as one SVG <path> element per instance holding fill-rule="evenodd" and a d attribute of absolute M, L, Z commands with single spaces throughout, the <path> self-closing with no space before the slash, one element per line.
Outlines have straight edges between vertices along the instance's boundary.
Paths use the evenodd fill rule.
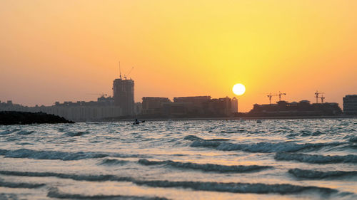
<path fill-rule="evenodd" d="M 259 166 L 259 165 L 244 166 L 244 165 L 221 165 L 221 164 L 196 164 L 192 162 L 174 162 L 171 160 L 149 161 L 147 159 L 139 159 L 139 163 L 144 165 L 166 164 L 171 167 L 177 167 L 183 169 L 199 169 L 204 172 L 221 172 L 221 173 L 257 172 L 263 169 L 273 168 L 271 166 Z"/>

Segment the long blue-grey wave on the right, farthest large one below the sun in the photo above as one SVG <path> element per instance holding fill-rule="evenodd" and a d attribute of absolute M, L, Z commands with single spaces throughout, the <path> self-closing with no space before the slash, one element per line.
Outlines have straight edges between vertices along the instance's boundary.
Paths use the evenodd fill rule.
<path fill-rule="evenodd" d="M 221 151 L 236 151 L 241 150 L 244 152 L 261 152 L 261 153 L 271 153 L 271 152 L 298 152 L 302 149 L 320 149 L 322 147 L 328 146 L 338 146 L 344 143 L 341 142 L 331 142 L 331 143 L 306 143 L 306 144 L 296 144 L 293 142 L 259 142 L 251 144 L 234 144 L 231 142 L 210 142 L 206 140 L 195 140 L 192 142 L 191 147 L 211 147 Z"/>

